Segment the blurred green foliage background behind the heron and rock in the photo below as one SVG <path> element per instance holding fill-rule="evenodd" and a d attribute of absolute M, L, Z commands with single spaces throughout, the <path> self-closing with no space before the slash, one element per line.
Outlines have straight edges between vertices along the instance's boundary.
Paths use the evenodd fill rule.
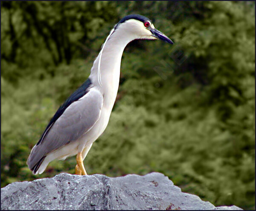
<path fill-rule="evenodd" d="M 36 176 L 26 159 L 114 24 L 134 13 L 175 45 L 126 47 L 116 104 L 84 160 L 87 172 L 157 171 L 214 205 L 254 209 L 254 2 L 1 1 L 1 187 L 74 173 L 75 157 Z"/>

